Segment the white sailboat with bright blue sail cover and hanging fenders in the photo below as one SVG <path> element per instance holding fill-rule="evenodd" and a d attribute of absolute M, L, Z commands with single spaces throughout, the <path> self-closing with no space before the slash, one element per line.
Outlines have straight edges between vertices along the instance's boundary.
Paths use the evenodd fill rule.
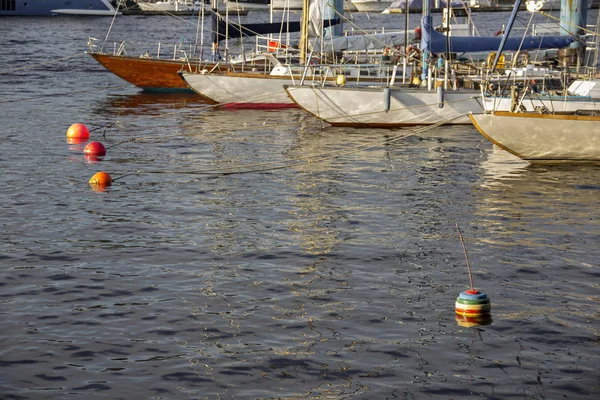
<path fill-rule="evenodd" d="M 518 0 L 518 3 L 520 1 Z M 432 27 L 429 2 L 424 3 L 422 18 L 423 81 L 427 72 L 427 55 L 431 53 L 462 53 L 496 50 L 502 43 L 511 48 L 565 47 L 574 39 L 561 37 L 464 37 L 446 36 Z M 515 3 L 513 15 L 518 5 Z M 448 71 L 448 68 L 445 68 Z M 392 84 L 379 87 L 294 86 L 287 87 L 289 97 L 308 113 L 337 126 L 394 128 L 416 124 L 468 124 L 467 113 L 483 111 L 481 93 L 458 89 L 456 80 L 447 76 L 424 87 L 398 88 Z M 420 86 L 420 85 L 418 85 Z M 435 90 L 429 90 L 431 87 Z"/>

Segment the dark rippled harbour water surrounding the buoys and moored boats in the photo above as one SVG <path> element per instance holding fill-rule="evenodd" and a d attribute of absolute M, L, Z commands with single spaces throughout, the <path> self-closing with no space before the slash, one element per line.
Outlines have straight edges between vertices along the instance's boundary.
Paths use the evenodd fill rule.
<path fill-rule="evenodd" d="M 142 93 L 82 54 L 109 24 L 0 24 L 1 398 L 596 398 L 598 166 Z M 101 162 L 74 122 L 116 124 Z M 265 162 L 295 165 L 200 173 Z M 99 170 L 121 178 L 93 191 Z M 457 222 L 491 325 L 456 321 Z"/>

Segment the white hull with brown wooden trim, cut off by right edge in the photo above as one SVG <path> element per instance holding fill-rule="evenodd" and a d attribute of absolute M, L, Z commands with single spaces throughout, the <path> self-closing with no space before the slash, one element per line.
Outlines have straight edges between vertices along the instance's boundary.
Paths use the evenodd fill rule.
<path fill-rule="evenodd" d="M 530 162 L 600 161 L 600 117 L 495 112 L 470 115 L 492 143 Z"/>

